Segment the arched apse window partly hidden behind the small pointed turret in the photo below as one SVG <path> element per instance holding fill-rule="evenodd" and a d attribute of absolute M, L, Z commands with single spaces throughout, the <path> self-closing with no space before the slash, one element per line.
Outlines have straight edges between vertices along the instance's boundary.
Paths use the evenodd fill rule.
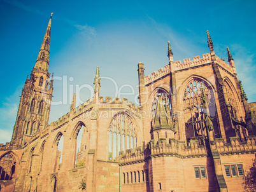
<path fill-rule="evenodd" d="M 169 93 L 166 92 L 166 90 L 159 89 L 157 90 L 157 93 L 155 93 L 155 96 L 152 100 L 152 118 L 155 118 L 155 109 L 157 109 L 157 95 L 162 96 L 162 102 L 164 106 L 166 106 L 166 111 L 169 111 L 169 114 L 171 116 L 171 97 Z"/>

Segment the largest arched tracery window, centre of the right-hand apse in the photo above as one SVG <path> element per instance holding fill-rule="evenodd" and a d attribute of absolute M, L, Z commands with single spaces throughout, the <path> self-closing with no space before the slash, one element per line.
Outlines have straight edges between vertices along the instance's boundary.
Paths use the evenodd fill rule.
<path fill-rule="evenodd" d="M 211 120 L 215 137 L 220 137 L 214 92 L 210 85 L 201 79 L 192 79 L 185 88 L 183 107 L 188 143 L 198 140 L 199 144 L 204 144 L 207 137 L 206 116 Z"/>

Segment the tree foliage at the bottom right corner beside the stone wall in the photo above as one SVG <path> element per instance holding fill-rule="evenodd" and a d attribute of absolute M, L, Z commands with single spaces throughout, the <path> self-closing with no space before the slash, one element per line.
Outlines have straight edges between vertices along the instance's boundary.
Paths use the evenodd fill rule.
<path fill-rule="evenodd" d="M 248 171 L 243 178 L 243 184 L 246 192 L 256 191 L 256 159 L 254 159 L 250 171 Z"/>

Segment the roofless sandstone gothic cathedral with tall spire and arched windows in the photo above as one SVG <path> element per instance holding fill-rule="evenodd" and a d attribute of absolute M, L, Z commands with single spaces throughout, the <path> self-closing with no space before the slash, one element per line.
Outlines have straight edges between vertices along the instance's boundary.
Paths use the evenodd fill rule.
<path fill-rule="evenodd" d="M 94 97 L 48 123 L 51 21 L 25 80 L 10 142 L 0 144 L 0 191 L 243 191 L 256 153 L 256 102 L 248 104 L 234 59 L 210 53 L 173 60 L 145 76 L 139 106 Z M 82 134 L 77 145 L 78 134 Z M 58 150 L 60 139 L 63 150 Z"/>

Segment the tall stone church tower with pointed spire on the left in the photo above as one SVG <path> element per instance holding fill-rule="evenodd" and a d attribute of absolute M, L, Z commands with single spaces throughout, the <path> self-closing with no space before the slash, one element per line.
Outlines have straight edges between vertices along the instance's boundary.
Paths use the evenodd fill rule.
<path fill-rule="evenodd" d="M 31 71 L 30 78 L 27 76 L 20 96 L 20 105 L 11 138 L 13 144 L 20 146 L 24 146 L 27 140 L 48 124 L 53 92 L 53 74 L 52 79 L 49 80 L 50 73 L 48 72 L 51 23 L 52 14 L 36 65 Z"/>

